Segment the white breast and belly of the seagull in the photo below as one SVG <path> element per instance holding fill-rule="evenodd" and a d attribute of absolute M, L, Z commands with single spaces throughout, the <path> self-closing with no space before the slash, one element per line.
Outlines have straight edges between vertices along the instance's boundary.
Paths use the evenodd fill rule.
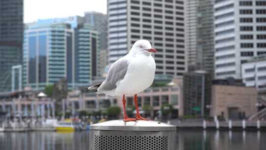
<path fill-rule="evenodd" d="M 127 74 L 117 83 L 116 95 L 134 95 L 151 86 L 155 75 L 152 56 L 139 55 L 131 59 Z"/>

